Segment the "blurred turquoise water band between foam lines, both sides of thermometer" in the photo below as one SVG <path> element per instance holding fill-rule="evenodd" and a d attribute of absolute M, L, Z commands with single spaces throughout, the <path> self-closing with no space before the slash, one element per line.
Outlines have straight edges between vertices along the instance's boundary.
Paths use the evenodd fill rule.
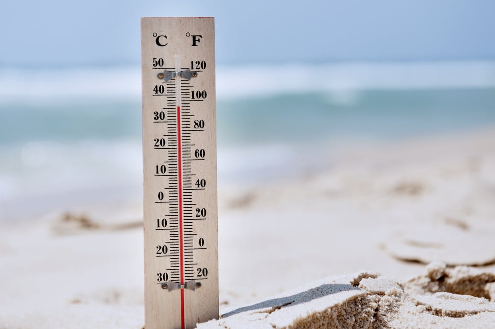
<path fill-rule="evenodd" d="M 346 102 L 322 92 L 219 99 L 217 125 L 220 147 L 412 138 L 495 125 L 495 88 L 366 90 Z M 0 147 L 140 139 L 139 99 L 0 104 Z"/>

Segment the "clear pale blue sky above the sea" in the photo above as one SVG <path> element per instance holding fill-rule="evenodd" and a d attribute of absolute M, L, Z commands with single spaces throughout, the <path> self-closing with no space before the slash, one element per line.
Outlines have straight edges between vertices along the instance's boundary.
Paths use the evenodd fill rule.
<path fill-rule="evenodd" d="M 0 66 L 139 65 L 140 17 L 214 16 L 217 64 L 495 59 L 491 0 L 3 0 Z"/>

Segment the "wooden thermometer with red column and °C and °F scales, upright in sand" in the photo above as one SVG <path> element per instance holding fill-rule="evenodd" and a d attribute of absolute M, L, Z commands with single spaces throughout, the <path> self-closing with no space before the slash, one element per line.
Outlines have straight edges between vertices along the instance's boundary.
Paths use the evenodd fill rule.
<path fill-rule="evenodd" d="M 218 318 L 212 17 L 141 20 L 145 328 Z"/>

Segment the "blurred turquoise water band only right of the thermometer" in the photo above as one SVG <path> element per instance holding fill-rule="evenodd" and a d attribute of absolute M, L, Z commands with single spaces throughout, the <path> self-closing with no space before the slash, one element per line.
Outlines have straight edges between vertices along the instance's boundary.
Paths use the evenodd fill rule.
<path fill-rule="evenodd" d="M 326 93 L 218 104 L 220 144 L 404 139 L 495 125 L 495 88 L 367 90 L 342 102 Z"/>

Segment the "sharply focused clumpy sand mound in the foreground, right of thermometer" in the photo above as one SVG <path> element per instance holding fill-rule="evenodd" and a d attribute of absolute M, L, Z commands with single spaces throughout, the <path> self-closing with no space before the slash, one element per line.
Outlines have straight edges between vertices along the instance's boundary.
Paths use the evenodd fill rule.
<path fill-rule="evenodd" d="M 329 277 L 197 328 L 493 328 L 495 303 L 479 297 L 478 283 L 495 275 L 469 268 L 446 271 L 445 265 L 431 265 L 425 276 L 407 282 L 405 288 L 377 273 Z M 452 279 L 448 285 L 452 291 L 464 292 L 471 291 L 466 283 L 471 278 L 478 286 L 473 287 L 475 295 L 436 292 L 432 281 L 442 276 Z"/>

